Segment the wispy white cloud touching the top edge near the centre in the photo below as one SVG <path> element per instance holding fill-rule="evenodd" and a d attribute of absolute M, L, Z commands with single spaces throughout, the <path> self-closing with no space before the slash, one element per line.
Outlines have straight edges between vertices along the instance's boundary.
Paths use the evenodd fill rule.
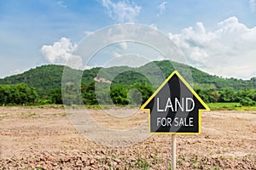
<path fill-rule="evenodd" d="M 134 22 L 142 8 L 130 1 L 113 3 L 111 0 L 102 0 L 102 5 L 108 9 L 109 17 L 119 23 Z"/>

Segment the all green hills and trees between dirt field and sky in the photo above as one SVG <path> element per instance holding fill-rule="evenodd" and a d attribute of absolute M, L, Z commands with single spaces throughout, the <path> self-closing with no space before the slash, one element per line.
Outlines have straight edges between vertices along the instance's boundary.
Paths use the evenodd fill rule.
<path fill-rule="evenodd" d="M 157 69 L 160 69 L 163 77 L 168 77 L 174 70 L 179 71 L 206 103 L 237 102 L 241 105 L 256 105 L 256 77 L 241 80 L 212 76 L 189 65 L 176 62 L 170 65 L 170 61 L 163 60 L 137 68 L 115 66 L 79 71 L 66 67 L 72 72 L 72 78 L 81 75 L 81 84 L 75 86 L 70 83 L 72 78 L 62 79 L 64 68 L 63 65 L 42 65 L 22 74 L 0 79 L 0 105 L 63 104 L 61 93 L 67 89 L 73 91 L 73 94 L 65 96 L 65 105 L 98 105 L 99 102 L 104 105 L 112 102 L 115 105 L 142 105 L 162 83 L 156 76 L 160 74 L 156 72 Z M 151 77 L 151 82 L 145 75 Z M 111 80 L 111 84 L 110 81 L 97 82 L 96 77 Z M 76 102 L 77 92 L 81 93 L 83 102 Z"/>

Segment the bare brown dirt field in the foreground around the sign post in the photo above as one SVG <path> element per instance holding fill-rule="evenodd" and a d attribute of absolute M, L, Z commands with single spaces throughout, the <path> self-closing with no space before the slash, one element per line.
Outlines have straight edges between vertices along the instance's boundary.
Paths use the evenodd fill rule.
<path fill-rule="evenodd" d="M 120 117 L 102 118 L 102 111 L 90 112 L 103 126 L 111 128 L 108 122 L 114 121 L 113 129 L 148 120 L 143 111 L 128 118 L 133 124 Z M 207 111 L 201 121 L 201 134 L 177 135 L 177 169 L 256 169 L 255 111 Z M 154 134 L 125 147 L 96 144 L 73 127 L 64 109 L 0 107 L 0 129 L 0 169 L 171 167 L 171 135 Z"/>

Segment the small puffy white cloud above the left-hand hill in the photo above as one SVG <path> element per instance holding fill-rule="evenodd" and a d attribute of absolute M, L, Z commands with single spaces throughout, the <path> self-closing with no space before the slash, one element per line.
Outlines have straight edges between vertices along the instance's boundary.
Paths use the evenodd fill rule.
<path fill-rule="evenodd" d="M 73 50 L 76 45 L 73 45 L 69 39 L 62 37 L 59 42 L 54 42 L 53 45 L 44 45 L 41 52 L 44 59 L 51 64 L 69 65 L 73 68 L 83 68 L 82 58 L 78 55 L 73 55 Z"/>

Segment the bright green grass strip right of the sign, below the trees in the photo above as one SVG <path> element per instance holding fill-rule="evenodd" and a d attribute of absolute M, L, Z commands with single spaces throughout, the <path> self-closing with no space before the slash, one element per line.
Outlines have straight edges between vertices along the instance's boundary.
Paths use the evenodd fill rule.
<path fill-rule="evenodd" d="M 210 103 L 211 111 L 256 111 L 256 105 L 243 106 L 240 103 Z"/>

